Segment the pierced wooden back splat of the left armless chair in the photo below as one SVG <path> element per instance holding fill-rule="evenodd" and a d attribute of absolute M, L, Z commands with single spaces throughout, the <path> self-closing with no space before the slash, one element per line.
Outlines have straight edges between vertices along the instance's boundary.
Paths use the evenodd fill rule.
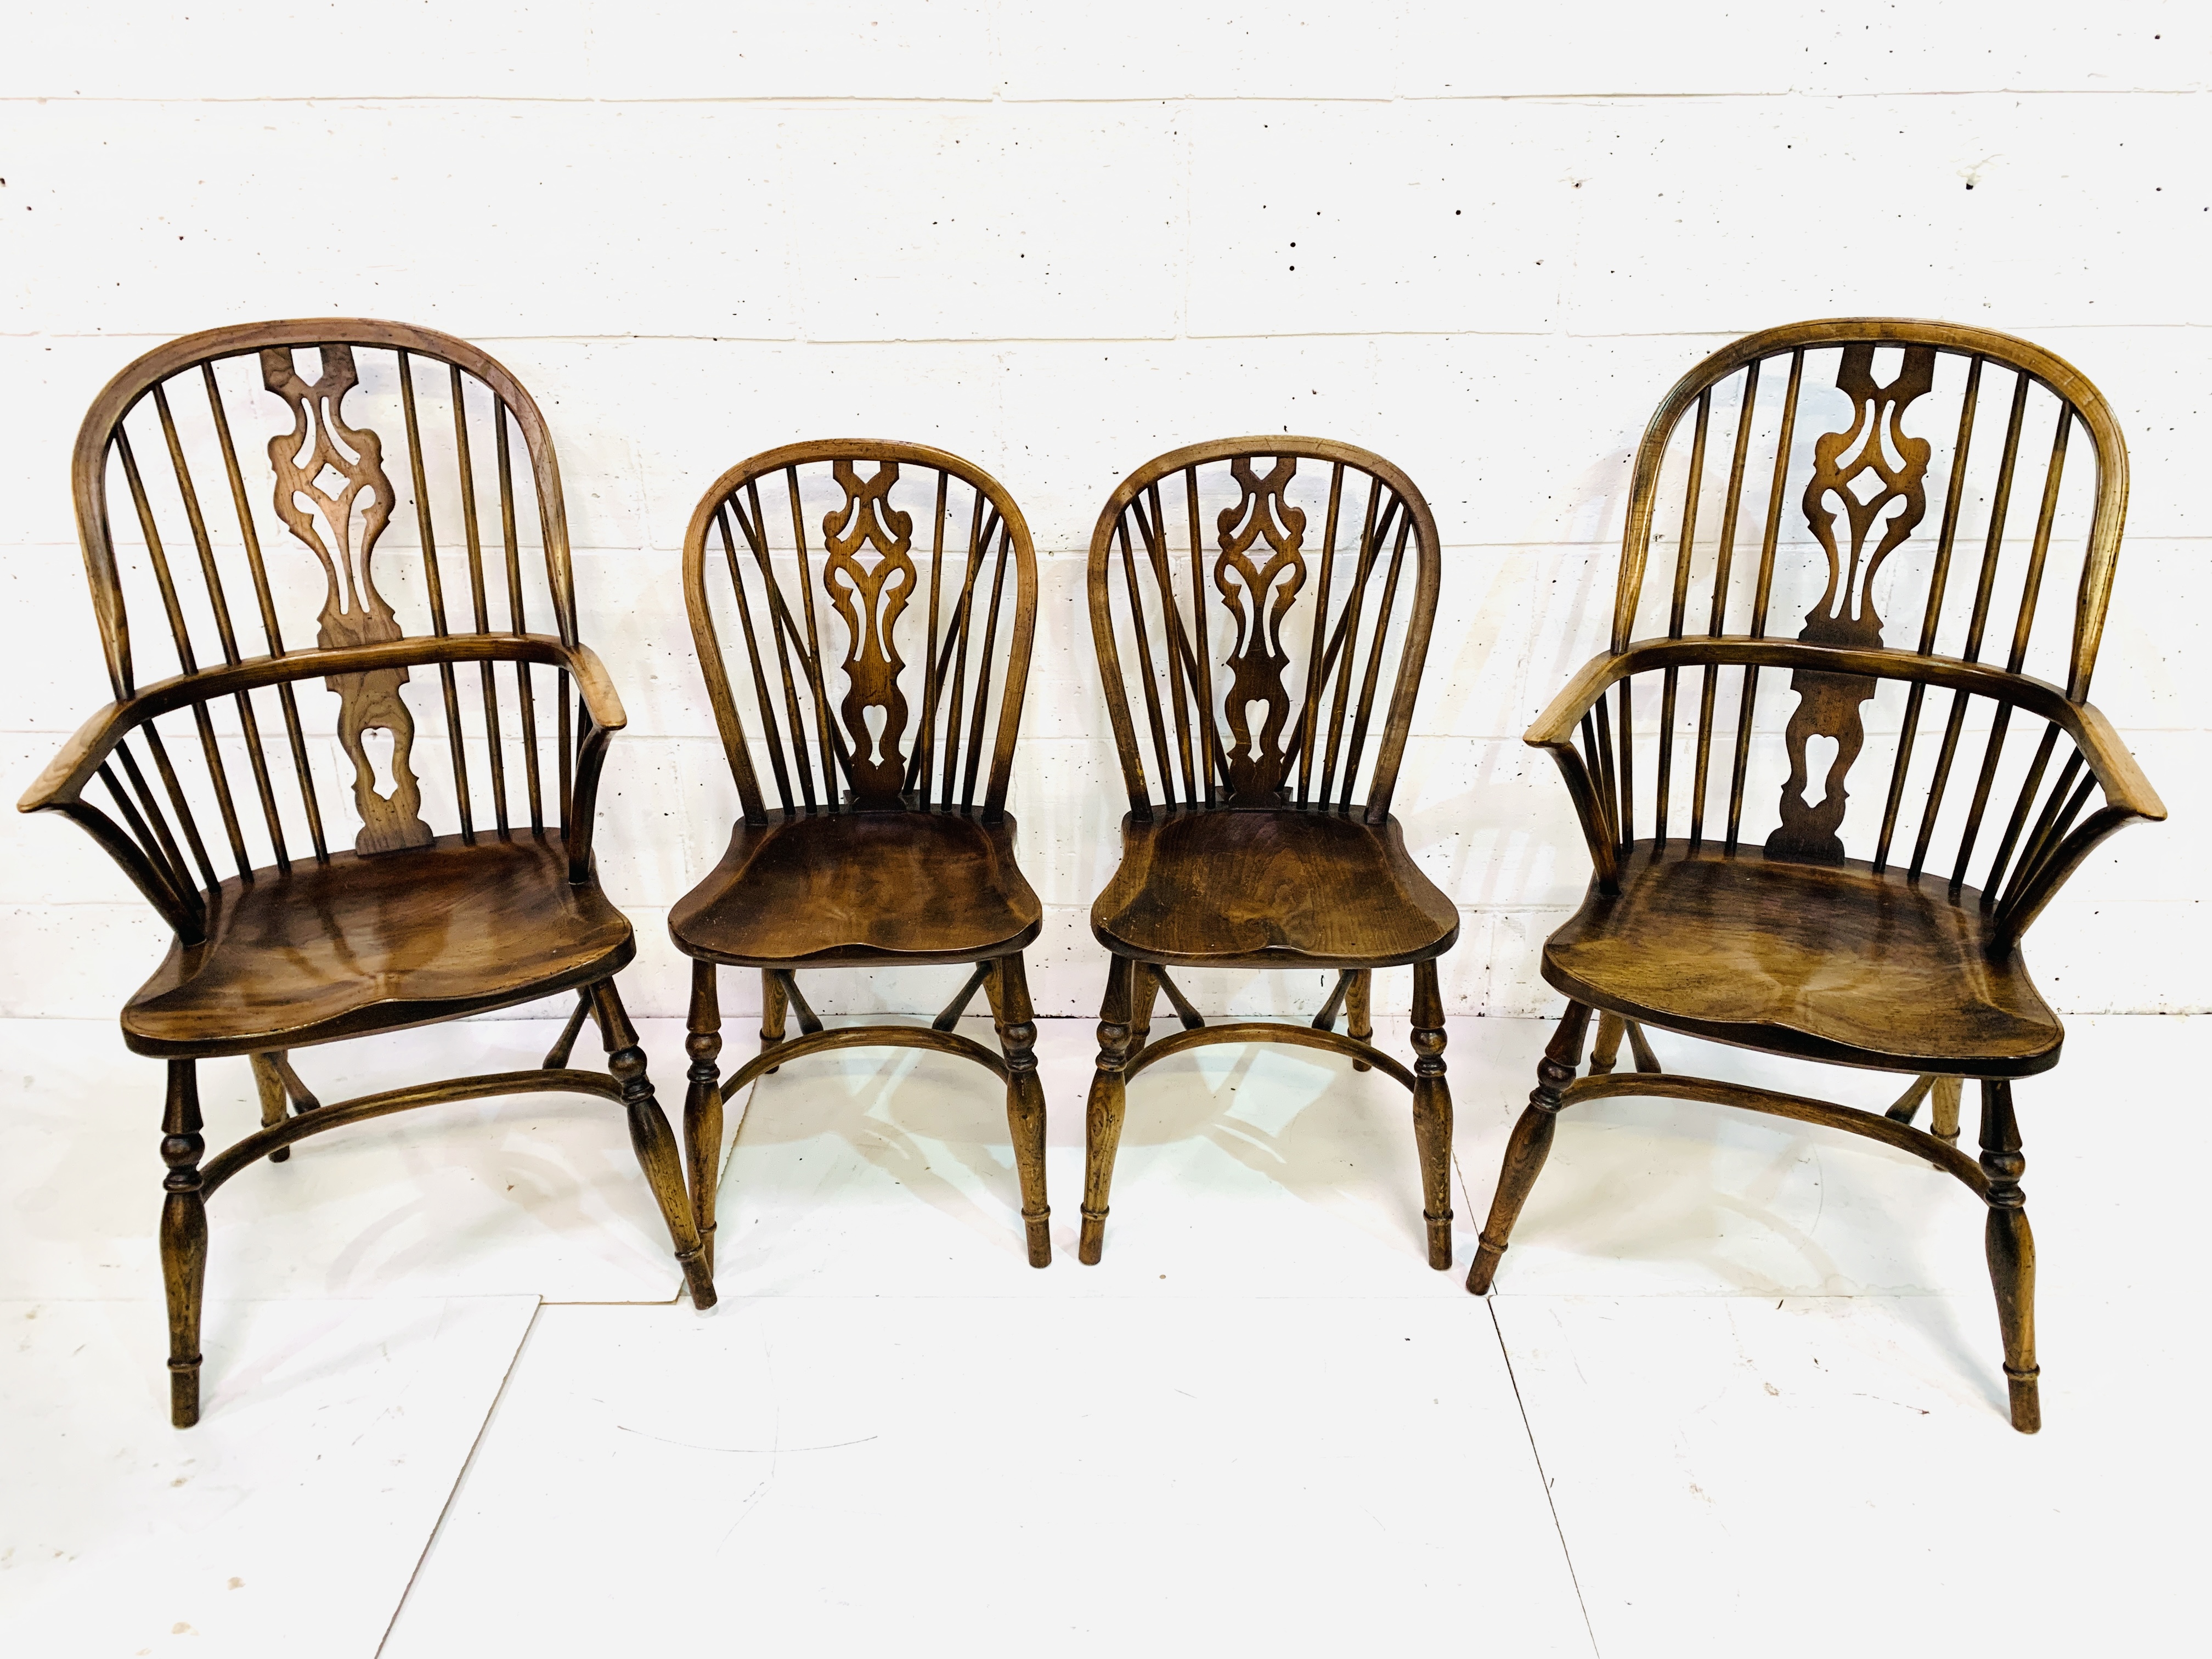
<path fill-rule="evenodd" d="M 838 714 L 852 739 L 854 803 L 896 807 L 907 776 L 898 739 L 907 730 L 907 699 L 898 675 L 898 613 L 914 597 L 914 515 L 891 507 L 898 462 L 885 460 L 860 478 L 849 460 L 832 469 L 845 504 L 823 515 L 823 588 L 845 617 L 845 701 Z M 869 714 L 880 728 L 872 728 Z"/>

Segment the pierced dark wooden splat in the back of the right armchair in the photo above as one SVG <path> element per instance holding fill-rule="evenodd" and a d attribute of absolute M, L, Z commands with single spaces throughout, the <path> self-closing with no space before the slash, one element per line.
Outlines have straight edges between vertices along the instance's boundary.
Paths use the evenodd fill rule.
<path fill-rule="evenodd" d="M 1851 425 L 1814 445 L 1812 480 L 1805 484 L 1805 524 L 1827 553 L 1827 588 L 1798 639 L 1816 646 L 1880 646 L 1882 617 L 1874 608 L 1874 575 L 1896 553 L 1927 513 L 1927 467 L 1933 445 L 1905 434 L 1905 409 L 1936 383 L 1936 349 L 1905 349 L 1898 378 L 1874 380 L 1874 345 L 1847 345 L 1836 367 L 1836 389 L 1851 398 Z M 1896 456 L 1896 460 L 1891 460 Z M 1838 538 L 1838 526 L 1849 542 Z M 1880 529 L 1869 551 L 1867 542 Z M 1767 836 L 1770 858 L 1843 863 L 1843 787 L 1867 741 L 1860 706 L 1874 697 L 1874 681 L 1860 675 L 1798 670 L 1790 679 L 1798 706 L 1790 714 L 1790 781 L 1783 785 L 1783 823 Z M 1836 743 L 1820 801 L 1805 799 L 1809 783 L 1807 745 L 1814 737 Z"/>

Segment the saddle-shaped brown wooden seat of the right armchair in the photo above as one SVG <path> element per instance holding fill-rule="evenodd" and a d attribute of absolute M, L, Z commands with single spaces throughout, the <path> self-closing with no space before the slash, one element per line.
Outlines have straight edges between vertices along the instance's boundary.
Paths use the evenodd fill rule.
<path fill-rule="evenodd" d="M 1900 869 L 1770 863 L 1637 843 L 1544 942 L 1577 1002 L 1745 1048 L 1878 1071 L 2026 1077 L 2066 1031 L 1995 940 L 1980 894 L 1951 902 Z M 1650 962 L 1668 973 L 1652 980 Z M 1898 1006 L 1918 1011 L 1900 1020 Z"/>

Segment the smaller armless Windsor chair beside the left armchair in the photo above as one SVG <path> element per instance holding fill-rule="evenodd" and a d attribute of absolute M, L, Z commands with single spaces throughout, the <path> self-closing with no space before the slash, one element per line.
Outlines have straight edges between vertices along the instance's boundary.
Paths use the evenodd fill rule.
<path fill-rule="evenodd" d="M 790 542 L 776 533 L 785 511 Z M 916 538 L 929 544 L 927 571 Z M 692 513 L 684 597 L 741 803 L 730 849 L 668 914 L 668 936 L 692 958 L 684 1144 L 708 1265 L 723 1102 L 787 1060 L 865 1046 L 960 1055 L 1006 1086 L 1029 1265 L 1048 1265 L 1044 1086 L 1022 967 L 1044 907 L 1015 865 L 1006 812 L 1037 624 L 1022 509 L 942 449 L 869 440 L 770 449 L 717 478 Z M 752 690 L 752 723 L 723 657 L 732 628 L 745 641 L 739 677 Z M 916 646 L 918 686 L 905 655 Z M 843 672 L 843 692 L 832 670 Z M 761 794 L 752 730 L 776 805 Z M 929 1026 L 823 1029 L 799 991 L 801 969 L 887 964 L 971 973 Z M 728 1082 L 717 1066 L 723 967 L 761 971 L 763 1009 L 761 1053 Z M 953 1031 L 975 991 L 989 1000 L 1002 1053 Z M 785 1037 L 790 1015 L 799 1037 Z"/>

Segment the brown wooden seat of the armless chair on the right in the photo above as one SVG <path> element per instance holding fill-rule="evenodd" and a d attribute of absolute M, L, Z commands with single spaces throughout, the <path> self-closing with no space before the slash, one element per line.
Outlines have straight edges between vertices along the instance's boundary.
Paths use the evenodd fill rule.
<path fill-rule="evenodd" d="M 1115 956 L 1166 964 L 1391 967 L 1451 949 L 1460 911 L 1396 818 L 1332 810 L 1159 810 L 1121 821 L 1091 907 Z"/>

